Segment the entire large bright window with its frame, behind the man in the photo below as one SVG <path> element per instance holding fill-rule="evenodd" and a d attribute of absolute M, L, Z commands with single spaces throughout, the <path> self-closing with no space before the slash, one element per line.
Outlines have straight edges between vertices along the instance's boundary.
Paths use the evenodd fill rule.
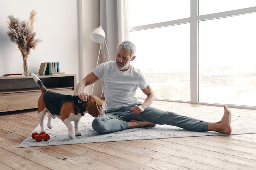
<path fill-rule="evenodd" d="M 157 98 L 256 107 L 255 0 L 129 3 L 132 64 Z"/>

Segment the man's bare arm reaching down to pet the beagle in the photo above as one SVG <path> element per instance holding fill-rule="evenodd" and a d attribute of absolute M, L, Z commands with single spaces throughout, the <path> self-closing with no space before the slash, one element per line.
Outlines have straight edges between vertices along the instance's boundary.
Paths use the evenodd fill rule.
<path fill-rule="evenodd" d="M 94 83 L 97 80 L 99 80 L 99 78 L 93 72 L 85 76 L 85 78 L 83 78 L 83 80 L 81 80 L 76 86 L 76 96 L 78 96 L 84 102 L 87 102 L 89 99 L 89 95 L 87 93 L 84 93 L 83 91 L 86 86 Z"/>

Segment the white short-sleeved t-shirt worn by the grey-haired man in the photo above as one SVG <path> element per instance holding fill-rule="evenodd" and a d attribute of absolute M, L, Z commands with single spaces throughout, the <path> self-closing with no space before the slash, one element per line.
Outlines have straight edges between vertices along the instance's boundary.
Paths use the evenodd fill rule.
<path fill-rule="evenodd" d="M 141 70 L 130 65 L 127 71 L 121 72 L 115 62 L 101 63 L 92 70 L 101 78 L 106 109 L 117 109 L 138 102 L 135 97 L 137 88 L 145 89 L 148 86 Z"/>

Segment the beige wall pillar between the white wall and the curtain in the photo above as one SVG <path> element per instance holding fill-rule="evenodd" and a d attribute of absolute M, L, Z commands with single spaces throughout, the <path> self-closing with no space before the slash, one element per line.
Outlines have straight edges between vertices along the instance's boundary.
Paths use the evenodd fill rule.
<path fill-rule="evenodd" d="M 80 37 L 81 39 L 81 53 L 83 57 L 81 58 L 81 75 L 85 77 L 88 73 L 92 72 L 92 70 L 97 65 L 97 59 L 99 55 L 99 43 L 95 43 L 90 39 L 90 35 L 92 31 L 100 26 L 100 11 L 99 11 L 99 0 L 79 0 L 79 7 L 81 8 L 80 12 L 82 13 L 80 16 Z M 90 11 L 90 12 L 89 12 Z M 83 61 L 82 61 L 83 60 Z M 102 63 L 102 57 L 100 54 L 99 63 Z M 81 78 L 82 79 L 82 78 Z M 92 93 L 92 85 L 85 88 L 85 92 L 88 94 Z M 97 81 L 94 83 L 93 94 L 97 96 L 101 96 L 102 87 L 101 81 Z"/>

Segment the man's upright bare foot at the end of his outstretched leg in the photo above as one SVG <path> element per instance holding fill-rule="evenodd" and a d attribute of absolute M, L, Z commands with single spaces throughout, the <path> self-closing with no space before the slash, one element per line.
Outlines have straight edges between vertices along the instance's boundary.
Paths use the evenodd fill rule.
<path fill-rule="evenodd" d="M 231 111 L 226 105 L 224 107 L 224 115 L 219 122 L 216 123 L 209 123 L 208 124 L 208 131 L 216 131 L 230 134 L 232 132 L 231 128 Z"/>

